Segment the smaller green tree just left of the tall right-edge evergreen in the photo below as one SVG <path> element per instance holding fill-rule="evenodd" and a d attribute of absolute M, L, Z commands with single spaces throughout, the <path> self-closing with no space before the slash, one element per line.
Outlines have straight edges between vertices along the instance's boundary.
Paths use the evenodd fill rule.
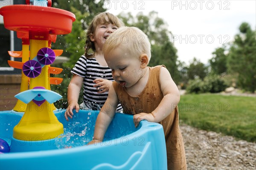
<path fill-rule="evenodd" d="M 225 54 L 226 51 L 226 46 L 223 45 L 222 47 L 217 48 L 214 52 L 212 52 L 213 57 L 209 59 L 212 71 L 217 75 L 221 75 L 227 71 L 227 54 Z"/>

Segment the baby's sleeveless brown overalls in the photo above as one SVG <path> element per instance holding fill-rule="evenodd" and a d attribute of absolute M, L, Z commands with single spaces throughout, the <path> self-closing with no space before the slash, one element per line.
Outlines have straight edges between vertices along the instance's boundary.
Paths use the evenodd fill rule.
<path fill-rule="evenodd" d="M 163 99 L 160 88 L 160 68 L 163 65 L 149 67 L 150 75 L 147 85 L 138 96 L 130 96 L 126 88 L 113 82 L 123 112 L 128 114 L 151 113 Z M 172 105 L 172 103 L 170 103 Z M 186 170 L 186 156 L 179 127 L 178 108 L 159 122 L 163 125 L 166 139 L 168 170 Z"/>

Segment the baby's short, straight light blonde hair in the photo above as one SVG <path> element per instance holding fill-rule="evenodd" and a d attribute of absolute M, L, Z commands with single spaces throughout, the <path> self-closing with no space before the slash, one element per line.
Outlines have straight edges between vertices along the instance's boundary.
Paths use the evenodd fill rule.
<path fill-rule="evenodd" d="M 148 61 L 151 58 L 151 45 L 148 36 L 137 27 L 118 28 L 107 38 L 102 51 L 106 55 L 116 49 L 128 51 L 135 57 L 147 54 Z"/>

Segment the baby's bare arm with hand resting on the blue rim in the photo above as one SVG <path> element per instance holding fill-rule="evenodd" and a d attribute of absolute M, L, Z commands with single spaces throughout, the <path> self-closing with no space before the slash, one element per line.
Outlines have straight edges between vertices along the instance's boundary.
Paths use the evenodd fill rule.
<path fill-rule="evenodd" d="M 163 93 L 163 99 L 157 108 L 151 113 L 140 113 L 134 115 L 134 124 L 137 127 L 141 120 L 148 122 L 160 122 L 169 116 L 180 102 L 180 93 L 177 85 L 172 80 L 169 71 L 165 67 L 160 69 L 160 87 Z"/>

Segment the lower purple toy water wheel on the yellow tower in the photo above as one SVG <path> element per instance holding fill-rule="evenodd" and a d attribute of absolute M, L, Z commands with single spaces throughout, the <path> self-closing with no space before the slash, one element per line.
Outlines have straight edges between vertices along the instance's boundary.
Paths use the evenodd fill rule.
<path fill-rule="evenodd" d="M 22 71 L 26 77 L 35 78 L 41 74 L 41 64 L 35 60 L 26 61 L 22 66 Z"/>

